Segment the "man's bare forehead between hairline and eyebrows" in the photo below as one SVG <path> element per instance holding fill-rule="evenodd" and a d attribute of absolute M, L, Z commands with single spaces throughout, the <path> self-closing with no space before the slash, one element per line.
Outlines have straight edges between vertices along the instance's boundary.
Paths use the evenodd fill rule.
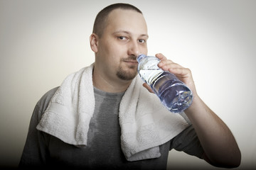
<path fill-rule="evenodd" d="M 106 31 L 127 30 L 131 33 L 147 34 L 146 21 L 142 13 L 127 9 L 114 9 L 107 18 Z"/>

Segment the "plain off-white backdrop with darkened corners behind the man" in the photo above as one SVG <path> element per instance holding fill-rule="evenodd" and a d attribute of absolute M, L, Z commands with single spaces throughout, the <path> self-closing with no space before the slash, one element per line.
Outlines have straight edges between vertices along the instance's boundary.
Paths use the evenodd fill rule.
<path fill-rule="evenodd" d="M 18 165 L 39 98 L 94 61 L 93 21 L 114 2 L 0 0 L 1 167 Z M 256 1 L 124 2 L 144 12 L 149 55 L 162 52 L 191 69 L 198 94 L 238 141 L 238 169 L 256 167 Z M 176 151 L 168 167 L 215 169 Z"/>

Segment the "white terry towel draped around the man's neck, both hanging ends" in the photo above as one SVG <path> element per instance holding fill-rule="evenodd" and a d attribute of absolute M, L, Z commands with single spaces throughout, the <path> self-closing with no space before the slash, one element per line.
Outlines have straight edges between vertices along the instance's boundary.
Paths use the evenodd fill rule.
<path fill-rule="evenodd" d="M 78 147 L 87 145 L 87 132 L 95 109 L 93 65 L 70 74 L 51 98 L 37 129 Z M 160 157 L 159 145 L 168 142 L 188 123 L 169 112 L 137 76 L 119 106 L 121 147 L 128 161 Z"/>

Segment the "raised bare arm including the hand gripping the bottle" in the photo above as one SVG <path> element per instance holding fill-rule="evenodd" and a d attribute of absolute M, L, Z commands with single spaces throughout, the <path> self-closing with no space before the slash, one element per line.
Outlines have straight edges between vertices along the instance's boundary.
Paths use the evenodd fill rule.
<path fill-rule="evenodd" d="M 203 159 L 214 166 L 239 166 L 241 160 L 240 149 L 232 132 L 198 96 L 191 71 L 171 60 L 167 60 L 164 55 L 157 54 L 156 57 L 161 60 L 159 63 L 161 69 L 175 74 L 193 92 L 193 103 L 186 109 L 185 113 L 191 120 L 204 149 Z M 146 87 L 146 84 L 144 86 Z M 149 87 L 146 88 L 149 89 Z"/>

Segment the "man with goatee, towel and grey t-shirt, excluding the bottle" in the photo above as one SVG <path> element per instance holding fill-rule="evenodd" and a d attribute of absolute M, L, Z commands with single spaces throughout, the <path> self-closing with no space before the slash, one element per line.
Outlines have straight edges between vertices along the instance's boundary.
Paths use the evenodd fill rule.
<path fill-rule="evenodd" d="M 144 16 L 132 5 L 113 4 L 98 13 L 90 36 L 95 63 L 38 101 L 21 167 L 166 169 L 171 149 L 214 166 L 239 166 L 235 138 L 199 98 L 189 69 L 156 55 L 161 69 L 193 91 L 182 118 L 166 113 L 149 86 L 141 88 L 136 58 L 147 53 L 148 37 Z"/>

